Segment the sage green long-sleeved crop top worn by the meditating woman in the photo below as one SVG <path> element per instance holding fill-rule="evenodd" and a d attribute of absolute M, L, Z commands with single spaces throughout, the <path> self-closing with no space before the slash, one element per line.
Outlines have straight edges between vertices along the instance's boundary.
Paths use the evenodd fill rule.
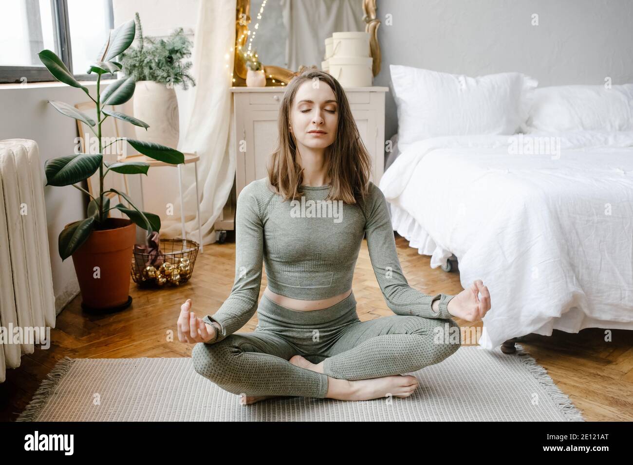
<path fill-rule="evenodd" d="M 319 300 L 348 291 L 363 240 L 387 306 L 396 314 L 450 318 L 454 295 L 425 295 L 400 268 L 384 194 L 370 182 L 365 201 L 325 200 L 330 185 L 301 186 L 301 200 L 283 201 L 268 182 L 255 180 L 239 194 L 235 215 L 235 281 L 229 297 L 205 323 L 219 342 L 245 325 L 258 307 L 262 260 L 270 290 L 292 299 Z M 439 312 L 432 303 L 439 299 Z"/>

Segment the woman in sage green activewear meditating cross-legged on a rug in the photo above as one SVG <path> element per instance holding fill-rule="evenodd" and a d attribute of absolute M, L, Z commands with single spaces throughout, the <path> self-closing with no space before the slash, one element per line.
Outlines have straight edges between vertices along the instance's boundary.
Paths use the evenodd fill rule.
<path fill-rule="evenodd" d="M 328 73 L 308 69 L 285 89 L 279 146 L 268 176 L 242 189 L 235 220 L 235 281 L 213 315 L 191 299 L 178 319 L 196 344 L 197 373 L 246 403 L 277 396 L 340 400 L 408 397 L 415 376 L 460 347 L 451 316 L 490 309 L 477 280 L 457 295 L 425 295 L 400 268 L 387 202 L 369 181 L 370 158 L 348 99 Z M 394 315 L 360 321 L 352 292 L 363 235 Z M 262 261 L 266 287 L 261 301 Z M 481 294 L 481 297 L 479 297 Z M 252 333 L 235 333 L 258 312 Z"/>

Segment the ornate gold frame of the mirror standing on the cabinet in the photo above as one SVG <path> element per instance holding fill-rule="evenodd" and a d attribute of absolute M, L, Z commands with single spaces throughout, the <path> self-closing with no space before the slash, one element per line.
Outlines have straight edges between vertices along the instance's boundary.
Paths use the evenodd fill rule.
<path fill-rule="evenodd" d="M 365 24 L 365 32 L 369 33 L 370 56 L 373 59 L 372 72 L 373 75 L 376 76 L 380 72 L 380 45 L 378 43 L 378 28 L 380 26 L 380 20 L 376 17 L 376 0 L 356 1 L 361 3 L 360 8 L 362 8 L 363 11 L 361 21 Z M 260 13 L 258 13 L 258 17 L 261 18 Z M 249 35 L 251 34 L 251 31 L 249 30 L 250 23 L 251 0 L 237 0 L 235 8 L 235 47 L 233 68 L 234 87 L 246 87 L 248 67 L 246 66 L 242 50 L 246 47 L 246 42 L 249 40 Z M 312 64 L 313 63 L 310 63 L 310 65 Z M 263 63 L 261 66 L 263 66 L 266 77 L 266 87 L 273 87 L 288 84 L 294 76 L 301 73 L 305 65 L 299 65 L 298 70 L 296 71 L 283 68 L 282 66 L 264 65 Z M 321 69 L 320 66 L 318 66 L 318 68 Z"/>

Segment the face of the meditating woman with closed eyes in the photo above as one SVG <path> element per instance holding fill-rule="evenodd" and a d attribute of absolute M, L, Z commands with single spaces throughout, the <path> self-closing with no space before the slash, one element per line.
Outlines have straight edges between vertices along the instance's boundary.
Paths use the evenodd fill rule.
<path fill-rule="evenodd" d="M 325 149 L 332 145 L 338 122 L 339 106 L 329 85 L 315 79 L 299 86 L 290 112 L 290 130 L 299 150 L 301 146 Z"/>

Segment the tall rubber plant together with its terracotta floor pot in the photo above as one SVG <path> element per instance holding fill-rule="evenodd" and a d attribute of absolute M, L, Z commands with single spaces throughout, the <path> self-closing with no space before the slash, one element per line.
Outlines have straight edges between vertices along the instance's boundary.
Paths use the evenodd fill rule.
<path fill-rule="evenodd" d="M 82 294 L 82 307 L 85 310 L 115 311 L 123 309 L 132 301 L 128 295 L 130 288 L 130 269 L 132 266 L 132 250 L 134 248 L 136 226 L 147 230 L 148 235 L 160 230 L 160 218 L 156 214 L 147 213 L 137 208 L 132 200 L 123 192 L 116 189 L 104 190 L 104 177 L 110 172 L 122 174 L 147 175 L 149 165 L 138 161 L 104 162 L 103 154 L 108 145 L 118 140 L 127 140 L 134 149 L 142 154 L 165 163 L 184 163 L 184 155 L 170 147 L 142 140 L 116 138 L 108 145 L 103 144 L 101 126 L 107 118 L 127 121 L 141 128 L 147 128 L 147 123 L 120 112 L 113 111 L 110 106 L 127 102 L 134 94 L 134 78 L 115 80 L 106 89 L 101 90 L 101 78 L 110 73 L 115 75 L 121 71 L 122 65 L 114 61 L 134 40 L 134 21 L 130 20 L 110 33 L 106 44 L 99 53 L 88 73 L 97 74 L 96 96 L 92 96 L 84 85 L 73 77 L 61 59 L 50 50 L 42 50 L 39 58 L 56 80 L 64 84 L 82 89 L 96 106 L 93 118 L 79 111 L 72 105 L 60 101 L 49 103 L 62 115 L 70 116 L 82 121 L 92 131 L 98 140 L 99 152 L 74 154 L 60 158 L 49 159 L 45 166 L 47 185 L 72 185 L 91 198 L 87 218 L 66 225 L 59 237 L 59 250 L 62 260 L 73 257 L 75 272 Z M 106 108 L 110 107 L 110 108 Z M 85 144 L 89 146 L 89 144 Z M 77 183 L 87 180 L 99 171 L 99 195 L 94 197 Z M 117 194 L 125 204 L 110 206 L 108 194 Z M 126 218 L 109 218 L 111 209 L 117 209 L 128 216 Z"/>

